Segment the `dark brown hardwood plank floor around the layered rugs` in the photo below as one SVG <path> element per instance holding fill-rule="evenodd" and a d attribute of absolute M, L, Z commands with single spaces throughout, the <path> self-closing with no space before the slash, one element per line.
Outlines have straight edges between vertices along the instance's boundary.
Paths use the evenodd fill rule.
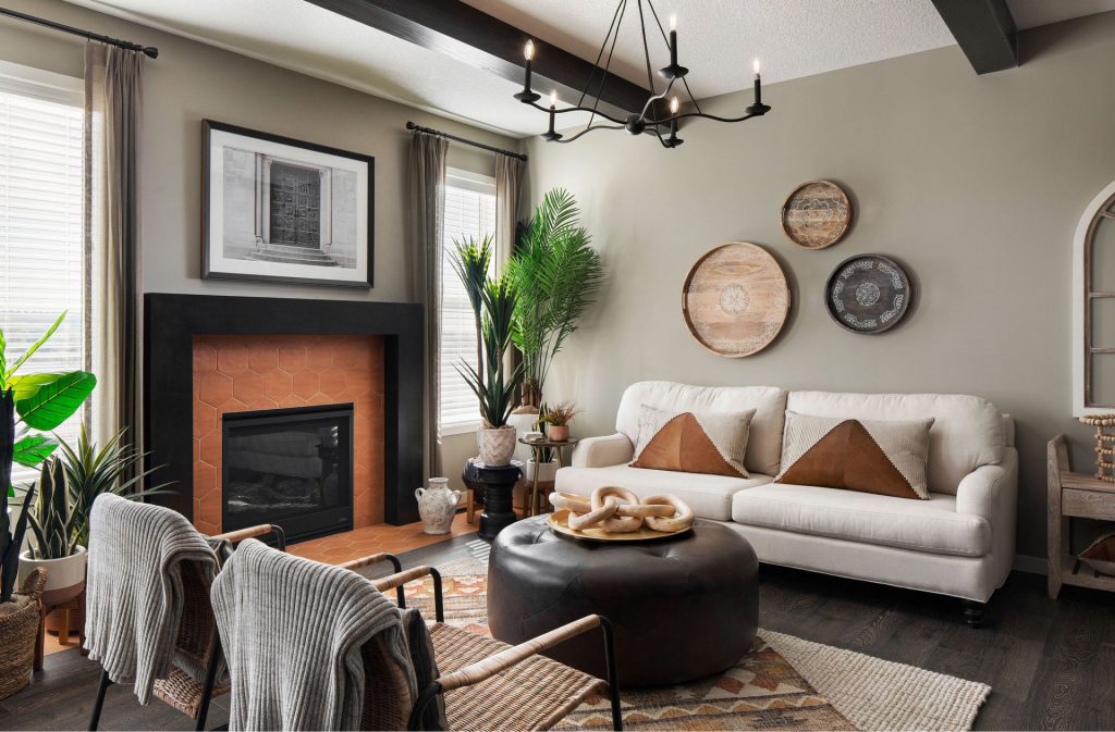
<path fill-rule="evenodd" d="M 476 554 L 475 535 L 403 555 L 405 566 Z M 960 602 L 778 567 L 762 572 L 760 624 L 798 637 L 982 681 L 991 697 L 979 730 L 1115 728 L 1115 595 L 1066 587 L 1045 596 L 1045 577 L 1014 574 L 985 626 L 963 623 Z M 99 667 L 77 651 L 47 657 L 30 686 L 0 701 L 0 730 L 85 729 Z M 227 696 L 209 726 L 227 720 Z M 158 701 L 143 707 L 128 686 L 109 690 L 105 730 L 190 730 Z"/>

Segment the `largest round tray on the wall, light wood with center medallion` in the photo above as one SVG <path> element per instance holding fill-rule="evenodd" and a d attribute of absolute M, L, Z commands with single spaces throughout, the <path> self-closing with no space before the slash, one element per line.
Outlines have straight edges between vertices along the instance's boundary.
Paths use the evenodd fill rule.
<path fill-rule="evenodd" d="M 789 287 L 766 250 L 731 242 L 697 260 L 681 290 L 681 314 L 697 342 L 738 359 L 762 351 L 789 313 Z"/>

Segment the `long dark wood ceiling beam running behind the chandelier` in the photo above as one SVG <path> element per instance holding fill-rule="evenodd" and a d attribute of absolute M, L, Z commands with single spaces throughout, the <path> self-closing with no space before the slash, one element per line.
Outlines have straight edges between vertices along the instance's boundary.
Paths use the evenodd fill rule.
<path fill-rule="evenodd" d="M 592 72 L 591 62 L 459 0 L 307 1 L 518 84 L 525 70 L 523 48 L 533 39 L 534 90 L 545 96 L 556 89 L 565 103 L 580 99 Z M 593 89 L 599 82 L 598 75 Z M 640 111 L 648 95 L 639 85 L 608 74 L 600 94 L 601 109 L 620 116 Z"/>

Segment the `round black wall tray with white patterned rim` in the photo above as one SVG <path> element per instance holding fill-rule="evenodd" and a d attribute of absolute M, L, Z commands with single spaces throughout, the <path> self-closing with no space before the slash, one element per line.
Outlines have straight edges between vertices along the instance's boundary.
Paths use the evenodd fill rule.
<path fill-rule="evenodd" d="M 905 271 L 879 254 L 840 263 L 825 283 L 825 308 L 842 328 L 869 335 L 894 328 L 913 293 Z"/>

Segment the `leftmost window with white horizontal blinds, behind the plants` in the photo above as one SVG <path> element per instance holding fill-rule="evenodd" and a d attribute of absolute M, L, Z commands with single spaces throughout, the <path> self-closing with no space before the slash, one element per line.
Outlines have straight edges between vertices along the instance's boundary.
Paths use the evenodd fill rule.
<path fill-rule="evenodd" d="M 67 311 L 29 372 L 85 364 L 80 79 L 0 62 L 0 324 L 17 358 Z M 76 439 L 76 414 L 57 432 Z M 33 477 L 16 466 L 13 479 Z"/>

